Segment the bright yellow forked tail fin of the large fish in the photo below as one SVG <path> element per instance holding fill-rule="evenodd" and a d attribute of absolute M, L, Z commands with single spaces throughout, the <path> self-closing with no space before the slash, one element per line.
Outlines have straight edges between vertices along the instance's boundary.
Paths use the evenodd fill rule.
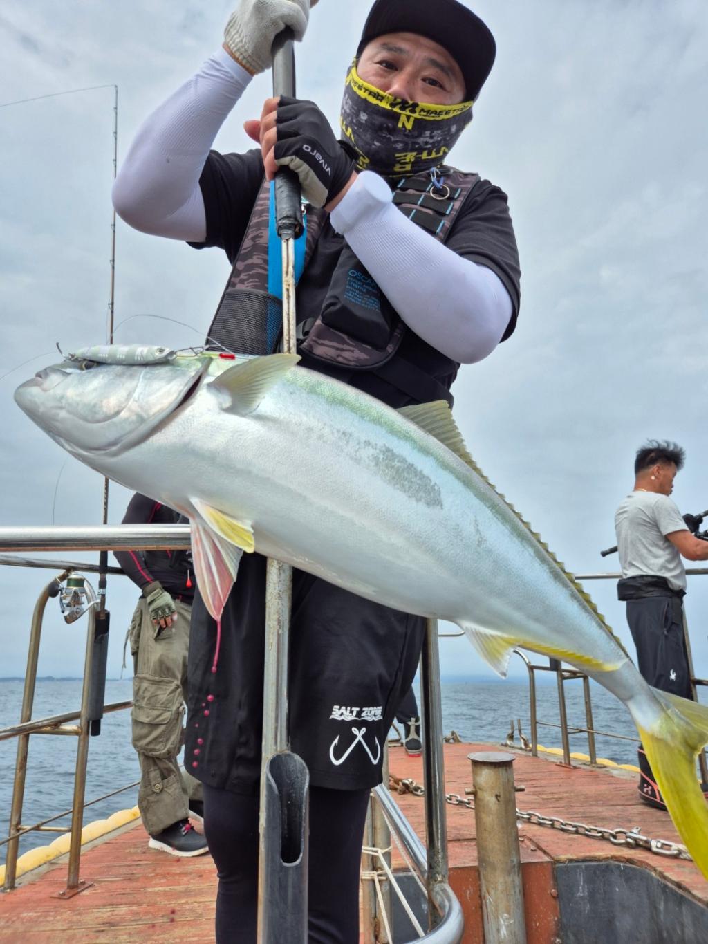
<path fill-rule="evenodd" d="M 665 711 L 654 725 L 636 725 L 649 765 L 674 826 L 708 878 L 708 804 L 696 774 L 696 758 L 708 743 L 708 707 L 652 689 Z"/>

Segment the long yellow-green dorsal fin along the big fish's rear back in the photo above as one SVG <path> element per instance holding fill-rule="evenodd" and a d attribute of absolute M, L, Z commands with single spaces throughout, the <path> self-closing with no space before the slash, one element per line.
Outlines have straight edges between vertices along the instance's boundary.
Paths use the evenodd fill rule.
<path fill-rule="evenodd" d="M 578 582 L 575 579 L 575 576 L 565 569 L 565 564 L 559 561 L 553 551 L 548 548 L 548 544 L 542 540 L 541 535 L 537 531 L 533 531 L 529 522 L 516 511 L 514 505 L 510 501 L 507 501 L 506 497 L 504 497 L 501 492 L 499 492 L 497 487 L 489 479 L 487 479 L 480 469 L 480 466 L 474 461 L 467 447 L 464 445 L 463 435 L 458 429 L 457 423 L 452 416 L 452 412 L 450 411 L 450 408 L 447 404 L 447 400 L 434 400 L 432 403 L 421 403 L 414 404 L 410 407 L 401 407 L 397 412 L 405 416 L 406 419 L 410 419 L 412 423 L 414 423 L 421 430 L 429 433 L 430 436 L 434 436 L 435 439 L 441 442 L 444 446 L 447 446 L 448 449 L 454 452 L 456 456 L 459 456 L 459 458 L 463 460 L 464 464 L 468 465 L 473 470 L 473 472 L 476 472 L 477 475 L 480 476 L 480 479 L 484 480 L 487 485 L 489 485 L 489 487 L 497 493 L 497 496 L 500 497 L 504 504 L 510 509 L 510 511 L 515 514 L 523 526 L 528 531 L 531 531 L 532 536 L 546 551 L 548 557 L 563 573 L 566 580 L 572 583 L 573 587 L 578 591 L 585 604 L 598 617 L 605 630 L 607 630 L 607 632 L 609 632 L 610 635 L 615 639 L 615 642 L 619 648 L 622 649 L 623 652 L 627 653 L 627 649 L 625 649 L 622 641 L 618 638 L 618 636 L 615 635 L 614 632 L 612 632 L 612 629 L 610 626 L 608 626 L 605 617 L 598 611 L 595 601 L 584 589 L 582 583 Z M 479 648 L 481 651 L 482 647 Z M 482 652 L 482 654 L 484 654 L 484 652 Z M 487 658 L 487 655 L 485 655 L 485 658 Z M 494 665 L 493 660 L 488 659 L 488 661 L 490 662 L 490 665 Z"/>

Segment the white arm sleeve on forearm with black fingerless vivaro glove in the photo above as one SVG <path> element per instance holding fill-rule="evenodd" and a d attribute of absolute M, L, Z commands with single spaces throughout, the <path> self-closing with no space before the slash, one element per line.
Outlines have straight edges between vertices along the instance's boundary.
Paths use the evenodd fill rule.
<path fill-rule="evenodd" d="M 419 337 L 460 363 L 492 353 L 513 312 L 501 279 L 404 216 L 382 177 L 360 174 L 330 221 Z"/>

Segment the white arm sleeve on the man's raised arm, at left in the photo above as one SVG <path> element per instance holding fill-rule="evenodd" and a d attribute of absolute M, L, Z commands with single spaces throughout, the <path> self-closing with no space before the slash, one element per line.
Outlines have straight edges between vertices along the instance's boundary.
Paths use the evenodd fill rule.
<path fill-rule="evenodd" d="M 214 138 L 251 76 L 220 49 L 145 119 L 113 184 L 127 224 L 201 243 L 207 220 L 199 176 Z"/>

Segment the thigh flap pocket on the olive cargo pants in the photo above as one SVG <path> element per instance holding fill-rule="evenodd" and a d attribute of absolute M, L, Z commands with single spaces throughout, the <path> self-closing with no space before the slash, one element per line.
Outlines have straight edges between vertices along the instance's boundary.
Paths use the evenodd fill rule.
<path fill-rule="evenodd" d="M 133 747 L 151 757 L 175 757 L 182 737 L 182 690 L 172 679 L 133 679 Z"/>

